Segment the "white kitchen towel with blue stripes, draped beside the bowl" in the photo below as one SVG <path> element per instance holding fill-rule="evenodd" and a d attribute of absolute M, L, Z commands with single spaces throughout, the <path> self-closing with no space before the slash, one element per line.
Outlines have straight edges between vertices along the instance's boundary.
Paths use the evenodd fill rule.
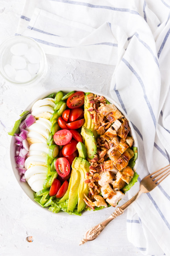
<path fill-rule="evenodd" d="M 139 144 L 140 176 L 129 198 L 143 177 L 170 163 L 169 18 L 168 0 L 26 0 L 16 33 L 46 54 L 115 66 L 110 95 Z M 128 209 L 128 239 L 145 255 L 170 255 L 169 182 Z"/>

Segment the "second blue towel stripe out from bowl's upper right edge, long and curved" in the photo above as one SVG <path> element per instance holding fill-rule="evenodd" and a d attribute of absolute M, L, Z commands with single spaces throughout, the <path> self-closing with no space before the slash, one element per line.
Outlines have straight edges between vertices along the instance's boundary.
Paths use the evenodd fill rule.
<path fill-rule="evenodd" d="M 129 62 L 127 62 L 127 60 L 125 60 L 124 58 L 122 58 L 122 61 L 126 64 L 126 66 L 133 72 L 133 74 L 136 76 L 136 78 L 138 79 L 141 87 L 142 87 L 142 90 L 143 90 L 143 96 L 144 96 L 144 99 L 148 105 L 148 109 L 150 111 L 150 114 L 151 114 L 151 117 L 152 117 L 152 120 L 153 120 L 153 123 L 154 123 L 154 126 L 155 126 L 155 129 L 156 129 L 156 118 L 155 118 L 155 115 L 153 113 L 153 110 L 152 110 L 152 107 L 151 107 L 151 104 L 148 100 L 148 97 L 146 95 L 146 91 L 145 91 L 145 86 L 143 84 L 143 81 L 142 79 L 140 78 L 140 76 L 138 75 L 138 73 L 134 70 L 134 68 L 129 64 Z"/>

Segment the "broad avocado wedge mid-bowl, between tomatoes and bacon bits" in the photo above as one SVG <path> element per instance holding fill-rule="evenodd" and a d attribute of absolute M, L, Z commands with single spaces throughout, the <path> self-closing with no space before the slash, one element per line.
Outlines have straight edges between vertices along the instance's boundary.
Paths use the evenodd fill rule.
<path fill-rule="evenodd" d="M 97 143 L 96 138 L 86 127 L 82 127 L 81 135 L 84 137 L 84 145 L 87 151 L 87 157 L 93 159 L 94 155 L 97 152 Z"/>

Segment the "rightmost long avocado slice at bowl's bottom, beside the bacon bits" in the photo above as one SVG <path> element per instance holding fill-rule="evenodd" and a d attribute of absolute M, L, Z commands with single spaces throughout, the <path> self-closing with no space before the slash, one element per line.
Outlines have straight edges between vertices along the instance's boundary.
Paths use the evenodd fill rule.
<path fill-rule="evenodd" d="M 85 159 L 82 159 L 82 162 L 80 164 L 79 172 L 81 174 L 81 180 L 80 180 L 80 185 L 78 189 L 78 206 L 77 206 L 77 211 L 78 213 L 81 212 L 86 204 L 84 202 L 84 194 L 87 196 L 89 192 L 89 186 L 87 183 L 84 183 L 84 178 L 86 177 L 86 173 L 89 172 L 89 162 L 86 161 Z"/>

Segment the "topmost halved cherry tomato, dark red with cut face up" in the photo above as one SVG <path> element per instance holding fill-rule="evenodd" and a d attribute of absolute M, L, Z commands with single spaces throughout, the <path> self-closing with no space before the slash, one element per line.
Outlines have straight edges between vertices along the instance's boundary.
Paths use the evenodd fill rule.
<path fill-rule="evenodd" d="M 84 93 L 75 92 L 67 99 L 67 106 L 70 109 L 76 109 L 84 104 Z"/>

